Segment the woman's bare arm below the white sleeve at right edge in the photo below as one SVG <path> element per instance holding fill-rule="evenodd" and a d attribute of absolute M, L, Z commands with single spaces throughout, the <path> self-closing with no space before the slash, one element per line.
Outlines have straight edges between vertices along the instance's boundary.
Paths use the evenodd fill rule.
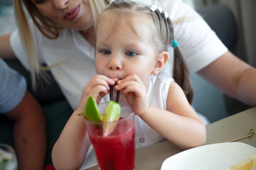
<path fill-rule="evenodd" d="M 256 105 L 256 69 L 232 52 L 225 52 L 198 74 L 225 94 L 248 105 Z"/>

